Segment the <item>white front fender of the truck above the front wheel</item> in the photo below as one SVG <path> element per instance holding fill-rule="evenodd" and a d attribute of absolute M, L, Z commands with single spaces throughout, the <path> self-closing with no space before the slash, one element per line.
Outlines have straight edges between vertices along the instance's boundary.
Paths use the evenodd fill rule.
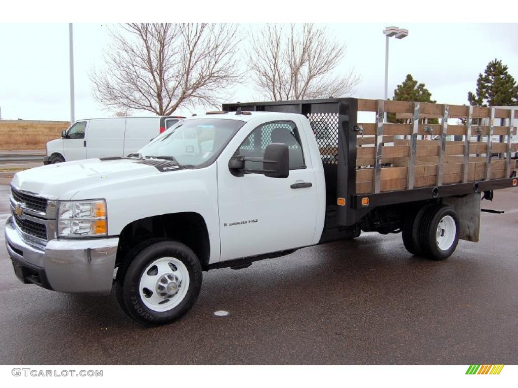
<path fill-rule="evenodd" d="M 209 263 L 213 263 L 220 260 L 216 171 L 214 162 L 205 168 L 161 172 L 128 180 L 100 179 L 81 188 L 71 199 L 104 198 L 110 236 L 120 235 L 127 225 L 140 219 L 197 213 L 208 230 Z"/>

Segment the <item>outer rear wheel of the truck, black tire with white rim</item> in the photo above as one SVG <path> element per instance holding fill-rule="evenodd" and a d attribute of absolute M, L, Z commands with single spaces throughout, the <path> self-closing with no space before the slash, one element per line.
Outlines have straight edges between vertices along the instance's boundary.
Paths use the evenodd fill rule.
<path fill-rule="evenodd" d="M 449 258 L 458 244 L 458 216 L 454 208 L 438 205 L 428 208 L 419 228 L 422 253 L 432 260 Z"/>

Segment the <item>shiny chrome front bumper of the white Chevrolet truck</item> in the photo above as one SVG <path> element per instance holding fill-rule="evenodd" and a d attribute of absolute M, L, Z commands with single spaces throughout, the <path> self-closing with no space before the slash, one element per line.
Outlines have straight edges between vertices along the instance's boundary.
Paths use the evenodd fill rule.
<path fill-rule="evenodd" d="M 15 272 L 23 282 L 61 292 L 110 293 L 119 237 L 55 238 L 40 250 L 23 240 L 9 217 L 5 241 Z"/>

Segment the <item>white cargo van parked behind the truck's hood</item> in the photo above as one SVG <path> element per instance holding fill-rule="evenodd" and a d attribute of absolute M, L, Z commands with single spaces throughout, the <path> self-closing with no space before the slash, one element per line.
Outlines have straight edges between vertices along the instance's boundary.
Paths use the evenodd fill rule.
<path fill-rule="evenodd" d="M 47 143 L 44 164 L 127 156 L 184 117 L 107 117 L 78 120 Z"/>

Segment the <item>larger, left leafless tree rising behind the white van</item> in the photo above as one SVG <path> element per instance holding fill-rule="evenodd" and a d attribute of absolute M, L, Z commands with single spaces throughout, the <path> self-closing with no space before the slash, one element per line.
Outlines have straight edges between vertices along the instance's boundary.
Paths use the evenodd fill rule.
<path fill-rule="evenodd" d="M 168 115 L 180 105 L 215 106 L 239 79 L 237 25 L 128 23 L 110 31 L 93 94 L 107 109 Z"/>

